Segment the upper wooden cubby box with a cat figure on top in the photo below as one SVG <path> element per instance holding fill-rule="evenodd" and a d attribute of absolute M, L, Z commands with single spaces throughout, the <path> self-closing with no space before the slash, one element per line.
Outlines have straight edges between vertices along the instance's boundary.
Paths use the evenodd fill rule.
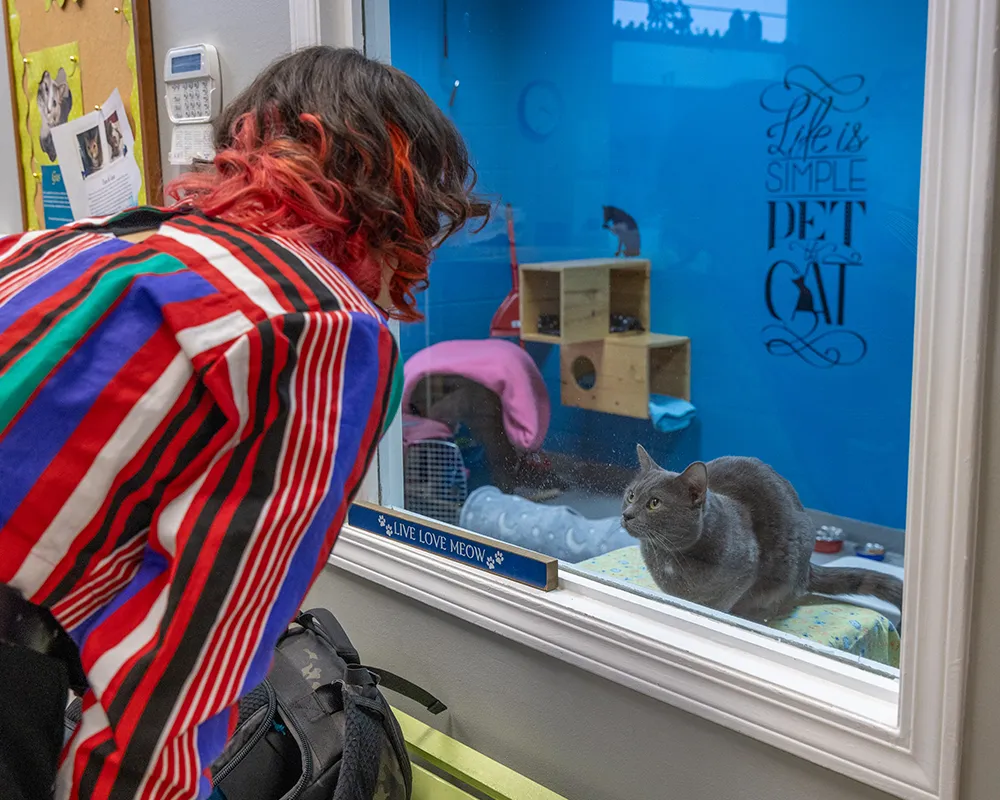
<path fill-rule="evenodd" d="M 519 294 L 525 341 L 574 344 L 604 339 L 612 335 L 612 314 L 636 317 L 649 330 L 649 261 L 643 258 L 521 264 Z M 558 336 L 538 332 L 542 314 L 559 315 Z"/>

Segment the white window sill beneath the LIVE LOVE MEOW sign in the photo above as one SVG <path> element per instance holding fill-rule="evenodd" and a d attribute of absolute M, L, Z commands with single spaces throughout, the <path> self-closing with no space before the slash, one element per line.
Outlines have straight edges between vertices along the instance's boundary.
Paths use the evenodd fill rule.
<path fill-rule="evenodd" d="M 939 796 L 902 741 L 892 678 L 581 576 L 538 592 L 354 528 L 330 563 L 876 788 Z"/>

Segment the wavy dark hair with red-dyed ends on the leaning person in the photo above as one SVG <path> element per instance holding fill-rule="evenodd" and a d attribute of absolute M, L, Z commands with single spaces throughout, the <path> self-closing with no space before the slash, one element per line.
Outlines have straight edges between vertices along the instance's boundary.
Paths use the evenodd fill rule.
<path fill-rule="evenodd" d="M 276 62 L 223 112 L 214 169 L 175 199 L 262 234 L 295 238 L 369 297 L 391 269 L 394 316 L 420 319 L 431 253 L 486 206 L 455 126 L 399 70 L 313 47 Z"/>

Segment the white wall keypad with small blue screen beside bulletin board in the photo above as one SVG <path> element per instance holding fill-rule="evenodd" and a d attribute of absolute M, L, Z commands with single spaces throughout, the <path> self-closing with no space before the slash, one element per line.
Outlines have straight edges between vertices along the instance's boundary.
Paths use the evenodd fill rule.
<path fill-rule="evenodd" d="M 163 68 L 167 114 L 174 125 L 211 122 L 222 110 L 219 51 L 210 44 L 174 47 Z"/>

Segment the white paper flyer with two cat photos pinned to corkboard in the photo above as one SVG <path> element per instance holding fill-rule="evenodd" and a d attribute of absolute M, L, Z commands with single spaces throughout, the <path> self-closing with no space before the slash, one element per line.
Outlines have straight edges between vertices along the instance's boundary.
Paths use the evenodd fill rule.
<path fill-rule="evenodd" d="M 74 219 L 117 214 L 138 202 L 142 173 L 115 89 L 97 111 L 52 129 Z"/>

